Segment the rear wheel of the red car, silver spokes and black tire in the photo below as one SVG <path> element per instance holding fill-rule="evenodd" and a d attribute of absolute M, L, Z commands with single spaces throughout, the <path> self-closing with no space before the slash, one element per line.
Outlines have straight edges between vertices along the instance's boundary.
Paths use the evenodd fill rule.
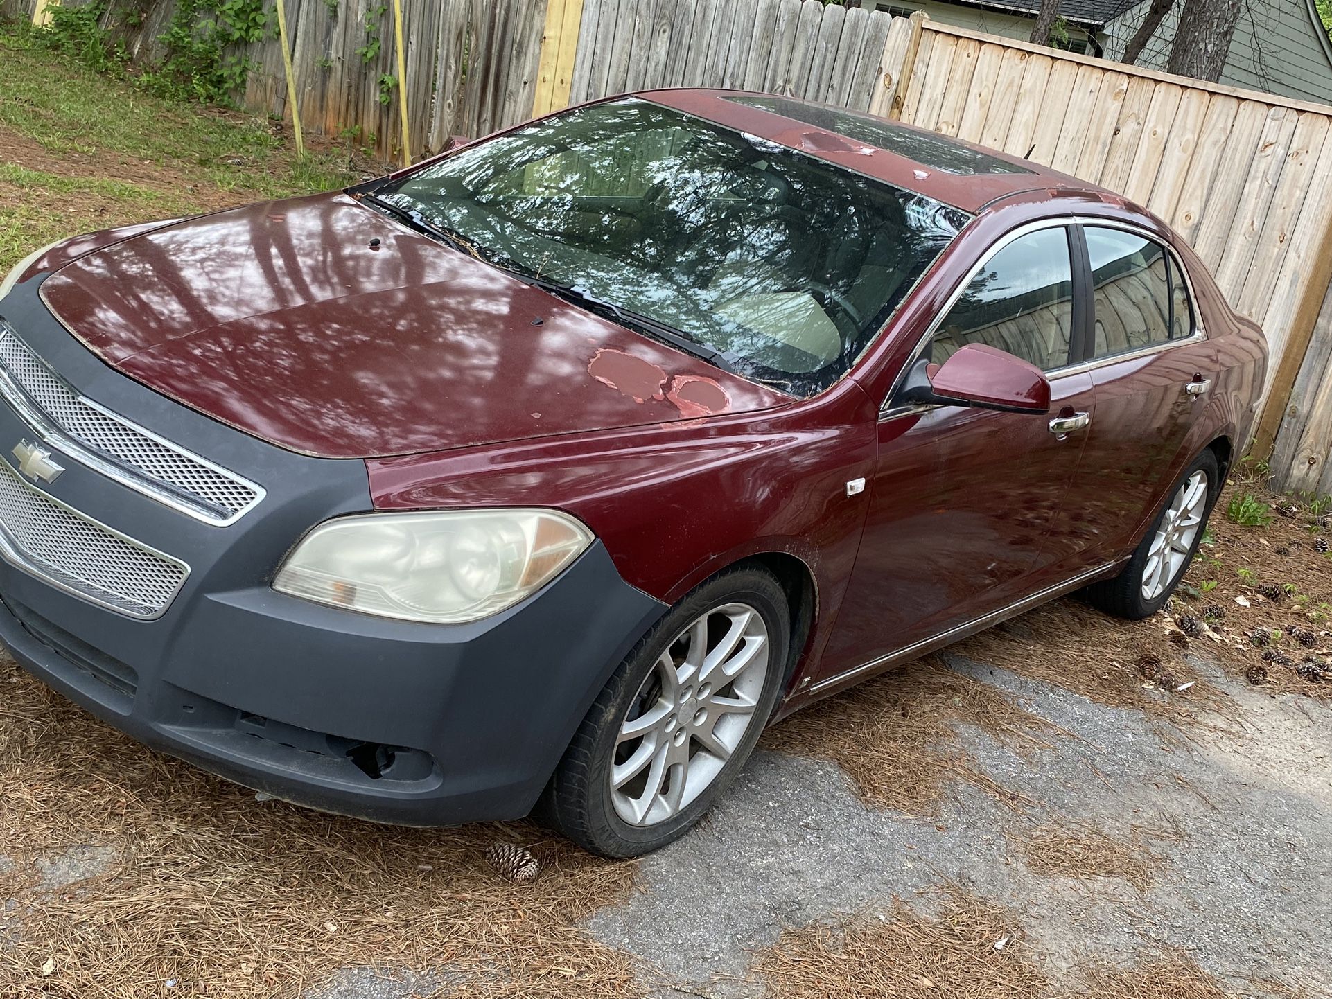
<path fill-rule="evenodd" d="M 1123 571 L 1088 586 L 1087 598 L 1106 613 L 1130 621 L 1148 618 L 1166 606 L 1203 541 L 1220 489 L 1220 466 L 1216 454 L 1207 449 L 1185 469 Z"/>

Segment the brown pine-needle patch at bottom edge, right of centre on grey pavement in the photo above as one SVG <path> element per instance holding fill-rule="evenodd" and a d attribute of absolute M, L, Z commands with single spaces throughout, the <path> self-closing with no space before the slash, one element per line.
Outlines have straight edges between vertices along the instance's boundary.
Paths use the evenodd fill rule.
<path fill-rule="evenodd" d="M 948 890 L 935 918 L 882 914 L 787 930 L 754 971 L 773 999 L 1039 999 L 1046 975 L 1000 906 Z"/>

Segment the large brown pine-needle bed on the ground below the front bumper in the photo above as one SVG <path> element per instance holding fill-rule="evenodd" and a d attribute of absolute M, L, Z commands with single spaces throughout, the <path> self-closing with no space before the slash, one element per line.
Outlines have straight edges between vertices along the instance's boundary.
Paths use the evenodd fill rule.
<path fill-rule="evenodd" d="M 0 995 L 290 996 L 337 968 L 449 967 L 469 996 L 621 996 L 627 955 L 577 928 L 623 902 L 635 866 L 527 823 L 408 830 L 321 815 L 159 755 L 0 662 Z M 485 862 L 518 842 L 542 871 Z M 43 878 L 93 844 L 91 878 Z M 63 851 L 63 852 L 61 852 Z M 44 866 L 45 864 L 45 866 Z"/>

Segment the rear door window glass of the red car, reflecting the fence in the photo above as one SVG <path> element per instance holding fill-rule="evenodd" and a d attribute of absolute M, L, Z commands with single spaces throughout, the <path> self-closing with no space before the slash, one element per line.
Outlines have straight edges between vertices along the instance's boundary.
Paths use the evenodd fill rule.
<path fill-rule="evenodd" d="M 1092 356 L 1112 357 L 1187 336 L 1172 326 L 1175 292 L 1166 248 L 1123 229 L 1090 225 L 1083 232 L 1095 308 Z M 1181 329 L 1191 324 L 1187 305 L 1184 292 Z"/>

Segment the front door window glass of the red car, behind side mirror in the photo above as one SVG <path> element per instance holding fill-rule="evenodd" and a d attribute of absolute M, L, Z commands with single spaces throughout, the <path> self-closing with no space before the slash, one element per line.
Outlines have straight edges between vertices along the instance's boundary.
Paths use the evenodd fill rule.
<path fill-rule="evenodd" d="M 1019 236 L 980 265 L 931 342 L 943 364 L 966 344 L 1004 350 L 1042 370 L 1068 364 L 1074 325 L 1068 230 Z"/>

